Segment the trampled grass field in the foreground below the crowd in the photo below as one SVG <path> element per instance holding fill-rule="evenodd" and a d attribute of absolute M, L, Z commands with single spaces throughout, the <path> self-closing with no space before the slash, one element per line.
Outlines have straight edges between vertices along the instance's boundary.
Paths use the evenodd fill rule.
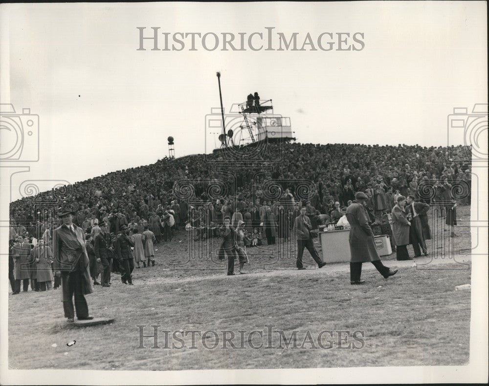
<path fill-rule="evenodd" d="M 458 215 L 468 216 L 468 207 L 462 207 Z M 438 231 L 435 233 L 437 236 Z M 457 228 L 457 234 L 452 247 L 467 249 L 467 229 Z M 197 252 L 189 258 L 189 249 L 195 245 L 180 232 L 172 243 L 158 246 L 155 267 L 134 270 L 134 286 L 122 284 L 114 274 L 111 288 L 95 286 L 94 293 L 87 296 L 90 313 L 114 318 L 111 325 L 68 325 L 60 290 L 10 295 L 9 366 L 179 370 L 468 362 L 470 291 L 455 291 L 455 286 L 470 283 L 470 270 L 457 264 L 457 258 L 469 264 L 469 257 L 441 259 L 432 253 L 417 261 L 415 268 L 412 261 L 398 262 L 391 255 L 383 260 L 400 269 L 396 276 L 383 279 L 371 264 L 364 264 L 362 279 L 367 284 L 351 286 L 348 264 L 312 269 L 306 252 L 305 261 L 311 267 L 294 269 L 293 243 L 283 248 L 280 257 L 272 247 L 250 253 L 250 273 L 227 277 L 219 260 L 206 257 L 209 243 L 215 245 L 216 241 L 198 243 Z M 420 269 L 422 262 L 437 269 Z M 144 338 L 146 348 L 137 348 L 137 325 L 147 326 L 145 335 L 153 332 L 150 325 L 160 326 L 160 347 L 165 346 L 165 330 L 170 331 L 170 347 L 183 344 L 172 339 L 175 331 L 212 330 L 219 342 L 217 348 L 207 349 L 204 344 L 212 347 L 215 336 L 207 334 L 202 343 L 197 335 L 196 348 L 190 348 L 190 335 L 176 333 L 183 337 L 183 348 L 151 348 L 153 338 Z M 271 335 L 267 325 L 274 326 Z M 250 335 L 252 330 L 262 331 L 263 337 Z M 299 348 L 293 348 L 294 340 L 285 347 L 279 330 L 287 339 L 296 331 Z M 323 335 L 321 348 L 316 338 L 323 330 L 331 333 Z M 244 349 L 222 348 L 222 331 L 234 332 L 233 343 Z M 239 331 L 244 331 L 242 336 Z M 308 331 L 312 343 L 304 343 Z M 360 340 L 352 339 L 354 331 Z M 73 340 L 76 343 L 68 347 Z M 260 344 L 262 348 L 251 348 Z M 341 348 L 345 346 L 351 348 Z"/>

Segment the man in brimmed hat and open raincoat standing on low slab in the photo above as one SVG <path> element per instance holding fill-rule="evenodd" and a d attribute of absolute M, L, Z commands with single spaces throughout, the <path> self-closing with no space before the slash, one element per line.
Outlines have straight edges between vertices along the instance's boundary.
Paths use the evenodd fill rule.
<path fill-rule="evenodd" d="M 61 209 L 63 224 L 53 232 L 55 276 L 61 277 L 63 308 L 68 322 L 93 319 L 85 296 L 92 293 L 90 262 L 83 230 L 73 224 L 74 212 L 69 207 Z M 73 309 L 73 296 L 75 307 Z"/>

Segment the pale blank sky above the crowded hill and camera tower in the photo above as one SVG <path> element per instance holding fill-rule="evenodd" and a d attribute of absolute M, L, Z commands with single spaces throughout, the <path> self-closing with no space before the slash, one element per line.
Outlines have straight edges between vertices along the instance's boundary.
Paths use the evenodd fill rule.
<path fill-rule="evenodd" d="M 3 4 L 0 10 L 0 21 L 10 25 L 10 101 L 0 95 L 1 102 L 40 116 L 41 158 L 29 164 L 32 179 L 76 182 L 154 163 L 168 155 L 169 135 L 177 157 L 203 153 L 205 115 L 219 107 L 216 71 L 225 108 L 258 91 L 291 118 L 301 143 L 446 145 L 453 107 L 471 111 L 487 103 L 482 1 Z M 218 35 L 276 27 L 286 36 L 299 32 L 299 47 L 307 32 L 313 39 L 363 32 L 365 48 L 208 52 L 198 43 L 198 51 L 178 52 L 151 51 L 147 41 L 147 51 L 136 51 L 136 27 L 147 27 L 149 36 L 153 26 Z"/>

